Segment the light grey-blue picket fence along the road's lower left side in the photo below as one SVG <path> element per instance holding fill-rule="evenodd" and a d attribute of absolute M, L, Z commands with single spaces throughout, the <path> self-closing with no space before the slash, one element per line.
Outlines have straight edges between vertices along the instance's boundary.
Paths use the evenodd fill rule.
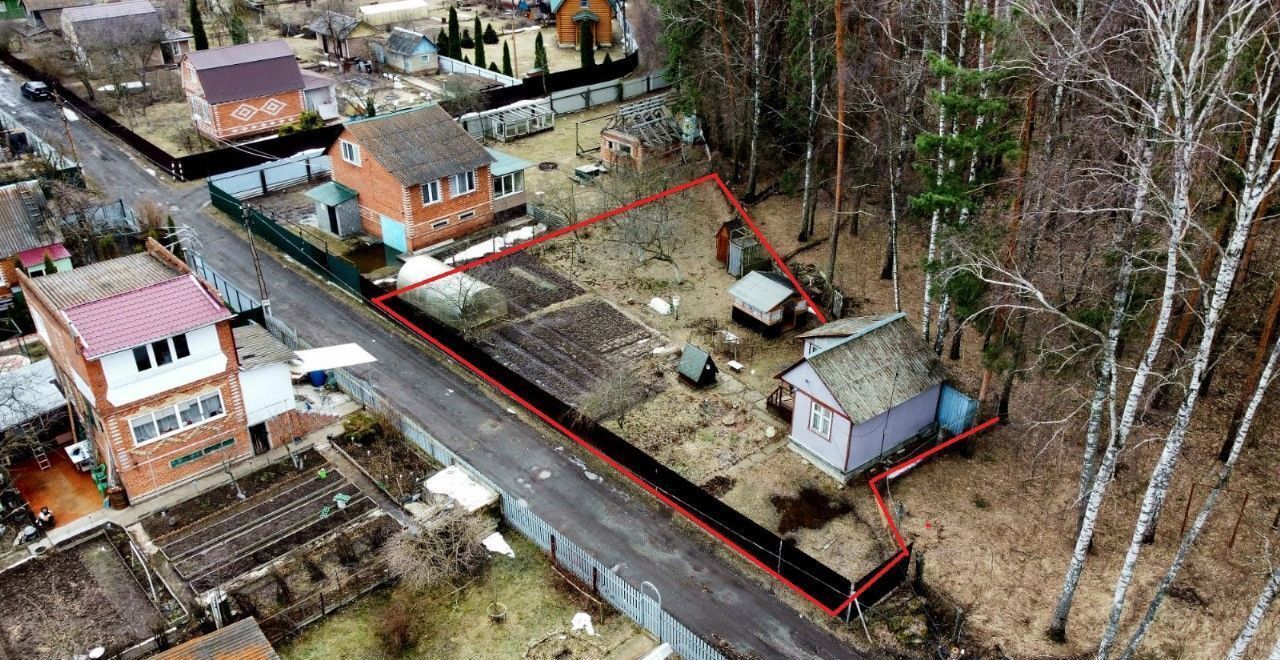
<path fill-rule="evenodd" d="M 293 331 L 293 329 L 274 316 L 266 317 L 266 326 L 289 348 L 310 348 L 310 345 L 302 340 L 297 333 Z M 385 412 L 394 411 L 394 408 L 387 405 L 385 400 L 380 394 L 378 394 L 374 386 L 365 382 L 362 379 L 352 376 L 346 370 L 334 370 L 330 373 L 338 388 L 347 393 L 347 395 L 353 400 L 369 408 L 376 408 Z M 393 416 L 399 420 L 401 430 L 404 432 L 404 436 L 424 452 L 430 454 L 431 458 L 436 459 L 443 466 L 461 467 L 472 478 L 497 491 L 502 498 L 502 515 L 512 527 L 536 544 L 538 547 L 552 553 L 556 563 L 561 568 L 573 573 L 573 576 L 584 583 L 595 586 L 598 593 L 611 605 L 617 608 L 618 611 L 626 614 L 631 618 L 631 620 L 653 633 L 653 636 L 658 640 L 669 643 L 671 647 L 685 660 L 724 660 L 724 656 L 719 651 L 686 628 L 667 610 L 662 609 L 657 601 L 650 599 L 639 588 L 627 585 L 626 581 L 613 573 L 609 567 L 579 547 L 577 544 L 571 541 L 568 537 L 561 535 L 554 527 L 538 517 L 538 514 L 531 512 L 527 507 L 522 507 L 518 498 L 509 496 L 507 491 L 467 464 L 467 462 L 453 453 L 452 449 L 444 446 L 444 444 L 436 440 L 426 428 L 422 428 L 417 422 L 407 417 L 394 413 Z"/>

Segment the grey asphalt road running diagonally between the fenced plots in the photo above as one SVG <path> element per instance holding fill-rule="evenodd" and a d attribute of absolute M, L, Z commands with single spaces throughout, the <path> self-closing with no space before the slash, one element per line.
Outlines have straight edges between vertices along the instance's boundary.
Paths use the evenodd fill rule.
<path fill-rule="evenodd" d="M 0 104 L 28 129 L 65 146 L 63 122 L 52 104 L 31 104 L 18 93 L 20 78 L 0 72 Z M 72 123 L 88 178 L 111 197 L 136 205 L 166 205 L 179 224 L 195 230 L 197 248 L 221 275 L 255 292 L 252 261 L 244 240 L 214 221 L 204 207 L 204 184 L 173 184 L 128 147 L 91 127 Z M 772 657 L 861 657 L 815 623 L 826 614 L 799 613 L 768 588 L 749 579 L 756 570 L 714 553 L 712 537 L 673 521 L 655 499 L 614 478 L 554 431 L 534 427 L 515 404 L 484 391 L 479 380 L 460 375 L 448 358 L 392 333 L 356 310 L 343 294 L 319 284 L 274 257 L 262 260 L 273 313 L 314 345 L 357 342 L 378 362 L 355 368 L 401 412 L 511 494 L 518 494 L 544 521 L 628 583 L 655 585 L 663 606 L 704 640 L 718 636 L 739 651 Z M 549 477 L 541 478 L 547 472 Z M 621 477 L 618 477 L 621 478 Z M 785 588 L 780 585 L 781 588 Z M 567 623 L 567 622 L 566 622 Z"/>

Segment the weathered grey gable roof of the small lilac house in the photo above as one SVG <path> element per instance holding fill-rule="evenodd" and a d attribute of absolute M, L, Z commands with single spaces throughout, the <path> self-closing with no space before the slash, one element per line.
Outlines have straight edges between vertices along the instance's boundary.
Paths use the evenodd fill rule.
<path fill-rule="evenodd" d="M 946 380 L 942 362 L 905 313 L 878 318 L 863 321 L 858 334 L 797 362 L 783 375 L 808 363 L 854 425 Z"/>

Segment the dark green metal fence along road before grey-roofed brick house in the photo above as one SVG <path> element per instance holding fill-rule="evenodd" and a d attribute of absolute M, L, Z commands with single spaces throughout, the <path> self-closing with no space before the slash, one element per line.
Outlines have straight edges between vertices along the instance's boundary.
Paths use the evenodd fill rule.
<path fill-rule="evenodd" d="M 298 263 L 305 265 L 317 275 L 324 276 L 338 287 L 342 287 L 348 293 L 357 297 L 361 295 L 360 270 L 347 258 L 332 253 L 329 251 L 329 240 L 317 230 L 298 224 L 292 224 L 291 228 L 285 228 L 283 226 L 283 223 L 275 217 L 264 214 L 261 210 L 244 201 L 238 200 L 236 196 L 219 188 L 212 182 L 207 182 L 207 185 L 209 200 L 212 202 L 214 207 L 227 214 L 232 217 L 232 220 L 236 220 L 241 225 L 247 225 L 247 229 L 252 232 L 256 238 L 261 238 L 275 246 L 289 257 L 293 257 L 293 260 Z M 314 234 L 315 240 L 323 243 L 324 247 L 317 246 L 312 240 L 307 240 L 300 235 L 301 233 Z"/>

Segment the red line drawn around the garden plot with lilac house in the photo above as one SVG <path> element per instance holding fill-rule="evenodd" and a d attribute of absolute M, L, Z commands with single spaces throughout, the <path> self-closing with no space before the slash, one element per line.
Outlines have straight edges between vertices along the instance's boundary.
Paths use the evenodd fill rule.
<path fill-rule="evenodd" d="M 704 532 L 712 535 L 713 537 L 716 537 L 717 540 L 719 540 L 721 542 L 723 542 L 728 547 L 733 549 L 733 551 L 736 551 L 737 554 L 740 554 L 741 556 L 744 556 L 748 562 L 750 562 L 751 564 L 755 564 L 755 567 L 758 567 L 762 570 L 764 570 L 765 573 L 773 576 L 780 582 L 782 582 L 783 585 L 786 585 L 787 587 L 790 587 L 792 591 L 795 591 L 796 593 L 799 593 L 800 596 L 803 596 L 805 600 L 808 600 L 809 602 L 817 605 L 820 610 L 826 611 L 828 615 L 831 615 L 831 617 L 838 617 L 841 613 L 844 613 L 846 609 L 849 609 L 852 605 L 852 602 L 858 599 L 859 595 L 861 595 L 868 588 L 870 588 L 872 585 L 874 585 L 877 581 L 879 581 L 887 572 L 890 572 L 895 565 L 897 565 L 899 563 L 901 563 L 910 554 L 909 550 L 908 550 L 908 546 L 906 546 L 906 541 L 902 538 L 901 532 L 899 532 L 897 526 L 893 523 L 893 518 L 892 518 L 892 515 L 890 515 L 888 508 L 886 507 L 884 500 L 883 500 L 883 498 L 879 494 L 879 490 L 878 490 L 879 482 L 883 481 L 883 480 L 886 480 L 886 478 L 888 478 L 888 477 L 891 477 L 891 476 L 897 476 L 897 475 L 905 472 L 906 467 L 910 467 L 910 466 L 913 466 L 915 463 L 919 463 L 919 462 L 927 459 L 928 457 L 931 457 L 931 455 L 933 455 L 933 454 L 936 454 L 936 453 L 938 453 L 938 452 L 941 452 L 941 450 L 943 450 L 943 449 L 946 449 L 946 448 L 948 448 L 948 446 L 951 446 L 951 445 L 954 445 L 954 444 L 956 444 L 956 443 L 959 443 L 961 440 L 965 440 L 965 439 L 968 439 L 968 437 L 970 437 L 973 435 L 977 435 L 977 434 L 979 434 L 979 432 L 989 428 L 991 426 L 993 426 L 998 421 L 998 417 L 993 417 L 991 420 L 987 420 L 986 422 L 983 422 L 983 423 L 980 423 L 980 425 L 978 425 L 978 426 L 975 426 L 975 427 L 965 431 L 964 434 L 960 434 L 960 435 L 957 435 L 957 436 L 947 440 L 946 443 L 942 443 L 942 444 L 940 444 L 940 445 L 937 445 L 937 446 L 934 446 L 934 448 L 932 448 L 932 449 L 929 449 L 927 452 L 923 452 L 922 454 L 919 454 L 916 457 L 908 458 L 908 459 L 902 460 L 901 463 L 897 463 L 892 468 L 890 468 L 890 469 L 887 469 L 887 471 L 884 471 L 884 472 L 882 472 L 882 473 L 872 477 L 868 481 L 868 485 L 872 489 L 872 495 L 874 495 L 876 504 L 879 507 L 881 514 L 884 517 L 884 521 L 888 524 L 890 532 L 893 536 L 893 541 L 895 541 L 895 544 L 899 547 L 899 553 L 897 553 L 897 555 L 891 562 L 888 562 L 879 570 L 877 570 L 876 574 L 873 574 L 870 577 L 870 579 L 868 579 L 867 583 L 861 586 L 861 588 L 855 590 L 849 596 L 849 599 L 846 599 L 842 604 L 840 604 L 836 608 L 828 608 L 828 606 L 823 605 L 822 601 L 819 601 L 814 596 L 809 595 L 809 592 L 806 592 L 805 590 L 800 588 L 797 585 L 795 585 L 794 582 L 791 582 L 790 579 L 787 579 L 786 577 L 783 577 L 781 573 L 778 573 L 777 570 L 774 570 L 773 568 L 771 568 L 768 564 L 763 563 L 762 560 L 759 560 L 758 558 L 755 558 L 754 555 L 751 555 L 750 553 L 748 553 L 739 544 L 733 542 L 732 540 L 730 540 L 728 537 L 726 537 L 721 532 L 713 530 L 705 522 L 703 522 L 696 515 L 694 515 L 692 513 L 690 513 L 680 503 L 677 503 L 676 500 L 671 499 L 669 496 L 667 496 L 666 494 L 663 494 L 662 491 L 659 491 L 658 489 L 655 489 L 653 485 L 650 485 L 648 481 L 645 481 L 640 476 L 635 475 L 634 472 L 631 472 L 630 469 L 627 469 L 626 467 L 623 467 L 621 463 L 618 463 L 617 460 L 614 460 L 613 458 L 611 458 L 605 453 L 603 453 L 599 449 L 596 449 L 595 446 L 593 446 L 590 443 L 588 443 L 586 440 L 584 440 L 582 437 L 580 437 L 577 434 L 575 434 L 567 426 L 562 425 L 561 422 L 558 422 L 557 420 L 554 420 L 553 417 L 550 417 L 545 412 L 538 409 L 535 405 L 532 405 L 531 403 L 529 403 L 527 400 L 525 400 L 522 397 L 520 397 L 518 394 L 516 394 L 515 391 L 512 391 L 511 389 L 508 389 L 502 382 L 498 382 L 498 380 L 495 380 L 493 376 L 490 376 L 489 373 L 486 373 L 486 372 L 481 371 L 480 368 L 477 368 L 470 361 L 467 361 L 466 358 L 463 358 L 462 356 L 460 356 L 457 352 L 454 352 L 449 347 L 444 345 L 440 340 L 438 340 L 436 338 L 431 336 L 429 333 L 426 333 L 425 330 L 422 330 L 421 327 L 419 327 L 416 324 L 413 324 L 412 321 L 410 321 L 408 318 L 406 318 L 403 315 L 401 315 L 399 312 L 397 312 L 397 311 L 392 310 L 390 307 L 388 307 L 387 303 L 384 302 L 388 298 L 394 298 L 394 297 L 401 295 L 403 293 L 411 292 L 411 290 L 413 290 L 413 289 L 416 289 L 419 287 L 424 287 L 426 284 L 430 284 L 430 283 L 433 283 L 435 280 L 439 280 L 439 279 L 443 279 L 443 278 L 448 278 L 448 276 L 458 274 L 458 272 L 463 272 L 466 270 L 481 266 L 484 263 L 493 262 L 493 261 L 495 261 L 498 258 L 502 258 L 504 256 L 508 256 L 508 255 L 512 255 L 515 252 L 530 248 L 532 246 L 536 246 L 539 243 L 554 239 L 557 237 L 562 237 L 562 235 L 568 234 L 571 232 L 576 232 L 576 230 L 582 229 L 582 228 L 585 228 L 588 225 L 591 225 L 594 223 L 599 223 L 600 220 L 607 220 L 609 217 L 614 217 L 617 215 L 621 215 L 621 214 L 625 214 L 625 212 L 631 211 L 634 208 L 637 208 L 640 206 L 644 206 L 644 205 L 646 205 L 649 202 L 654 202 L 654 201 L 660 200 L 663 197 L 668 197 L 668 196 L 672 196 L 672 194 L 687 191 L 690 188 L 694 188 L 694 187 L 700 185 L 700 184 L 707 183 L 707 182 L 716 182 L 716 185 L 719 188 L 721 193 L 724 194 L 724 197 L 728 200 L 728 202 L 733 206 L 733 210 L 736 210 L 739 212 L 739 215 L 742 217 L 742 220 L 746 223 L 746 225 L 749 228 L 751 228 L 751 232 L 754 232 L 755 235 L 756 235 L 756 238 L 759 238 L 760 244 L 764 246 L 764 249 L 773 258 L 774 263 L 778 265 L 778 269 L 782 271 L 782 274 L 786 275 L 787 279 L 791 280 L 791 284 L 795 287 L 795 289 L 797 292 L 800 292 L 800 295 L 809 304 L 809 308 L 813 311 L 814 316 L 818 317 L 819 322 L 827 322 L 826 315 L 822 312 L 820 308 L 818 308 L 817 304 L 814 304 L 813 299 L 804 290 L 804 287 L 800 285 L 800 281 L 791 272 L 791 270 L 786 266 L 786 263 L 782 262 L 782 258 L 778 256 L 777 251 L 773 249 L 773 246 L 769 244 L 769 242 L 764 238 L 764 234 L 760 232 L 759 226 L 746 214 L 746 210 L 742 207 L 741 202 L 739 202 L 739 200 L 728 189 L 728 187 L 724 184 L 724 182 L 719 178 L 719 174 L 716 174 L 716 173 L 705 174 L 705 175 L 699 177 L 696 179 L 692 179 L 692 180 L 690 180 L 687 183 L 682 183 L 680 185 L 668 188 L 668 189 L 662 191 L 659 193 L 644 197 L 641 200 L 636 200 L 635 202 L 627 203 L 625 206 L 620 206 L 620 207 L 613 208 L 611 211 L 605 211 L 605 212 L 603 212 L 600 215 L 596 215 L 595 217 L 590 217 L 588 220 L 582 220 L 582 221 L 575 223 L 572 225 L 568 225 L 568 226 L 557 229 L 554 232 L 549 232 L 547 234 L 543 234 L 543 235 L 540 235 L 540 237 L 538 237 L 535 239 L 526 240 L 524 243 L 512 246 L 512 247 L 506 248 L 503 251 L 486 255 L 486 256 L 484 256 L 484 257 L 481 257 L 479 260 L 471 261 L 471 262 L 468 262 L 468 263 L 466 263 L 463 266 L 448 270 L 448 271 L 442 272 L 439 275 L 434 275 L 431 278 L 428 278 L 428 279 L 425 279 L 422 281 L 411 284 L 408 287 L 402 287 L 402 288 L 396 289 L 393 292 L 378 295 L 378 297 L 372 298 L 370 302 L 374 306 L 376 306 L 379 310 L 381 310 L 384 313 L 387 313 L 388 316 L 390 316 L 392 318 L 396 318 L 401 325 L 408 327 L 415 334 L 417 334 L 419 336 L 421 336 L 422 339 L 425 339 L 428 343 L 430 343 L 431 345 L 434 345 L 435 348 L 438 348 L 439 350 L 442 350 L 444 354 L 447 354 L 454 362 L 462 365 L 468 371 L 471 371 L 472 373 L 475 373 L 477 377 L 480 377 L 481 380 L 484 380 L 485 382 L 488 382 L 490 386 L 493 386 L 493 388 L 498 389 L 499 391 L 502 391 L 507 398 L 509 398 L 513 402 L 518 403 L 526 411 L 534 413 L 539 420 L 547 422 L 553 428 L 556 428 L 557 431 L 559 431 L 562 435 L 564 435 L 570 440 L 573 440 L 575 443 L 577 443 L 580 446 L 582 446 L 584 449 L 586 449 L 591 455 L 599 458 L 605 464 L 608 464 L 613 469 L 618 471 L 622 476 L 625 476 L 628 480 L 631 480 L 635 485 L 637 485 L 641 489 L 644 489 L 646 492 L 649 492 L 650 495 L 653 495 L 654 498 L 657 498 L 659 501 L 662 501 L 663 504 L 666 504 L 666 505 L 671 507 L 672 509 L 680 512 L 685 518 L 687 518 L 689 521 L 691 521 L 694 524 L 696 524 Z"/>

